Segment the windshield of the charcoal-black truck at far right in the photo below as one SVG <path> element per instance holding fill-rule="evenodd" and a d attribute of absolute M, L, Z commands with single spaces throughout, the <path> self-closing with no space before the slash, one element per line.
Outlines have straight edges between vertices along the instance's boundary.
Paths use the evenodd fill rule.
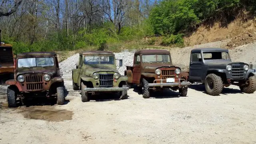
<path fill-rule="evenodd" d="M 228 52 L 203 52 L 204 60 L 230 60 Z"/>

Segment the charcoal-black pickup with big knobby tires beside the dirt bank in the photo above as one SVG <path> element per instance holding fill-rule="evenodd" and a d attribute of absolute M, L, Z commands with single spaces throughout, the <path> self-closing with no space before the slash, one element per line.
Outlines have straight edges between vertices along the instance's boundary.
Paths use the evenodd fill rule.
<path fill-rule="evenodd" d="M 231 84 L 244 93 L 256 90 L 255 69 L 244 62 L 232 62 L 228 50 L 223 48 L 196 48 L 191 51 L 189 81 L 202 82 L 206 93 L 219 95 Z"/>

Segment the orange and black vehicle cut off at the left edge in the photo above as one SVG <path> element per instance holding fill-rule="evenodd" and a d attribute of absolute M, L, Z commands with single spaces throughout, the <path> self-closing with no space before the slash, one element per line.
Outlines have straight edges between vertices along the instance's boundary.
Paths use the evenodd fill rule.
<path fill-rule="evenodd" d="M 14 77 L 14 55 L 11 44 L 1 42 L 0 30 L 0 81 L 3 82 Z"/>

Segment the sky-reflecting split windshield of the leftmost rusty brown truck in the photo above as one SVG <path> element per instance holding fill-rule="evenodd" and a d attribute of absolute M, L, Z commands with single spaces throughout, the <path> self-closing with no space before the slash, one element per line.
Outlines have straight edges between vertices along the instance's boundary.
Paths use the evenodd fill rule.
<path fill-rule="evenodd" d="M 19 58 L 18 59 L 18 68 L 24 67 L 46 67 L 54 66 L 53 57 L 40 57 L 40 58 Z"/>

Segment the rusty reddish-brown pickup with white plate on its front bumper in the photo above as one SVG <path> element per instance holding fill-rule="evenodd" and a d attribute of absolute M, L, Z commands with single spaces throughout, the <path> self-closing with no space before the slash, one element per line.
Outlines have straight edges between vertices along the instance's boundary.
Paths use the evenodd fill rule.
<path fill-rule="evenodd" d="M 139 50 L 134 54 L 133 66 L 126 66 L 124 72 L 128 84 L 142 87 L 143 97 L 150 97 L 150 90 L 171 88 L 179 90 L 180 96 L 186 96 L 191 83 L 187 81 L 188 73 L 172 64 L 167 50 Z"/>

